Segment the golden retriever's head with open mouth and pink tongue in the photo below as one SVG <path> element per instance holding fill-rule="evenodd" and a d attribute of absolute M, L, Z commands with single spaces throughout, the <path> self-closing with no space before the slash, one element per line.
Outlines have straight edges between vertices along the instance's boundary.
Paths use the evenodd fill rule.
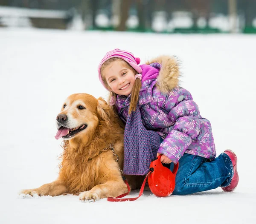
<path fill-rule="evenodd" d="M 102 98 L 96 99 L 89 94 L 69 96 L 56 118 L 58 131 L 55 139 L 72 139 L 94 132 L 99 119 L 108 119 L 105 112 L 108 108 Z"/>

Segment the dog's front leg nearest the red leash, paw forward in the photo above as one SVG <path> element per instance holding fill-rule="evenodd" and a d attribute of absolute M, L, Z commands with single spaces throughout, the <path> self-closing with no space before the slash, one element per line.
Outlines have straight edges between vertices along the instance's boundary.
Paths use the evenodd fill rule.
<path fill-rule="evenodd" d="M 97 201 L 101 198 L 117 197 L 128 192 L 127 185 L 124 181 L 107 181 L 99 184 L 91 190 L 84 191 L 79 195 L 81 201 Z"/>

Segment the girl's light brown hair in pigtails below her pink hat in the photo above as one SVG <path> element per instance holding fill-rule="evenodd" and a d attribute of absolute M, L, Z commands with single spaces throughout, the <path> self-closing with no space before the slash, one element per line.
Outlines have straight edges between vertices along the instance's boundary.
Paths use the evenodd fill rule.
<path fill-rule="evenodd" d="M 116 61 L 116 60 L 122 60 L 121 58 L 119 57 L 112 57 L 110 58 L 109 60 L 105 61 L 101 68 L 100 68 L 100 74 L 102 76 L 102 71 L 108 66 L 110 65 L 113 61 Z M 123 62 L 125 62 L 124 60 L 122 60 Z M 127 62 L 125 62 L 125 65 L 128 67 L 128 68 L 131 68 L 133 71 L 134 71 L 134 75 L 138 74 L 137 71 L 134 70 L 134 68 L 131 67 L 131 65 L 129 65 Z M 135 78 L 135 77 L 134 77 Z M 105 86 L 110 90 L 110 87 L 105 79 L 105 77 L 102 76 L 102 80 L 105 84 Z M 141 81 L 140 79 L 135 79 L 135 82 L 134 82 L 134 87 L 132 88 L 132 91 L 131 91 L 131 102 L 130 102 L 130 107 L 129 107 L 129 114 L 131 114 L 131 111 L 135 111 L 136 110 L 136 107 L 137 107 L 137 103 L 138 103 L 138 99 L 139 99 L 139 94 L 140 94 L 140 88 L 141 88 Z M 109 95 L 109 99 L 108 99 L 108 102 L 111 100 L 111 97 L 113 96 L 114 98 L 114 101 L 116 101 L 116 96 L 117 94 L 110 91 L 110 95 Z M 112 110 L 115 112 L 115 114 L 117 115 L 117 110 L 116 110 L 116 107 L 115 105 L 111 106 Z"/>

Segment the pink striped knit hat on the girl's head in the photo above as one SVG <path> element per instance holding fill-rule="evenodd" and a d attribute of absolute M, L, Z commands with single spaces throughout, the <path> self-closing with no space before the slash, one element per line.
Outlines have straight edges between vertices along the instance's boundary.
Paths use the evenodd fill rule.
<path fill-rule="evenodd" d="M 109 51 L 104 58 L 101 60 L 98 66 L 98 73 L 99 73 L 99 81 L 102 83 L 102 85 L 108 90 L 108 88 L 105 86 L 101 74 L 100 74 L 100 68 L 103 65 L 104 62 L 106 62 L 108 59 L 112 57 L 119 57 L 122 60 L 126 61 L 129 65 L 131 65 L 132 68 L 134 68 L 135 71 L 138 72 L 138 74 L 141 74 L 142 70 L 138 64 L 140 64 L 140 58 L 134 57 L 134 54 L 128 51 L 120 50 L 116 48 L 113 51 Z"/>

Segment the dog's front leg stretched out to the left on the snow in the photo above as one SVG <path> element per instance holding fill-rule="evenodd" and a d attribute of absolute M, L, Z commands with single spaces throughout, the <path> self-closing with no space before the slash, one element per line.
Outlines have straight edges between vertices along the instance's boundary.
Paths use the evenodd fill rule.
<path fill-rule="evenodd" d="M 38 188 L 21 190 L 20 192 L 20 194 L 29 194 L 31 196 L 34 194 L 38 194 L 38 196 L 58 196 L 63 193 L 67 193 L 67 187 L 61 179 L 57 179 L 49 184 L 44 184 Z"/>

